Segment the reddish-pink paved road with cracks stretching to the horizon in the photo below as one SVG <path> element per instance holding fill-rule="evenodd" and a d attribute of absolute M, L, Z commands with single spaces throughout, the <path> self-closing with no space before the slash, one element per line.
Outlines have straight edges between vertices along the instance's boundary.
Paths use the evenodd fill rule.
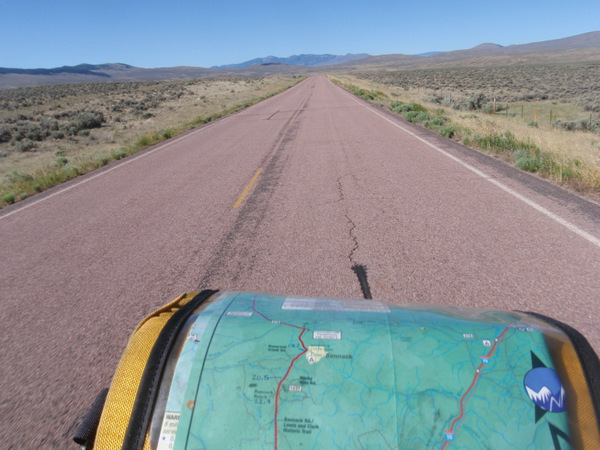
<path fill-rule="evenodd" d="M 199 287 L 534 310 L 600 350 L 600 207 L 313 77 L 0 212 L 3 448 L 66 448 Z"/>

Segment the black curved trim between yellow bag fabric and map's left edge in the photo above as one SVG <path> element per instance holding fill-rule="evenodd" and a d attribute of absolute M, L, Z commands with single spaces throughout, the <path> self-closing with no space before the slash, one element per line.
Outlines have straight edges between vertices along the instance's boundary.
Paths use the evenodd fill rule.
<path fill-rule="evenodd" d="M 142 449 L 146 439 L 146 432 L 152 417 L 152 410 L 158 395 L 158 388 L 162 378 L 169 353 L 177 340 L 179 332 L 192 315 L 194 310 L 200 306 L 204 300 L 218 291 L 206 289 L 196 295 L 192 300 L 185 304 L 179 311 L 167 321 L 164 328 L 158 335 L 142 379 L 138 388 L 133 411 L 129 419 L 125 439 L 123 440 L 123 449 Z"/>

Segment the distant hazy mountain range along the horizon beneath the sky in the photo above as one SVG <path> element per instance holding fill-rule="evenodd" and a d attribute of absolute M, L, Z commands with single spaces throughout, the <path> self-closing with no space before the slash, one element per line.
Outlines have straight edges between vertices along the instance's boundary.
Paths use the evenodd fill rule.
<path fill-rule="evenodd" d="M 268 76 L 367 70 L 415 70 L 451 67 L 492 67 L 529 64 L 600 63 L 600 31 L 522 45 L 486 43 L 467 50 L 420 55 L 294 55 L 268 56 L 212 68 L 144 69 L 127 64 L 80 64 L 54 69 L 0 68 L 0 89 L 47 84 L 107 81 L 189 80 L 218 76 Z"/>

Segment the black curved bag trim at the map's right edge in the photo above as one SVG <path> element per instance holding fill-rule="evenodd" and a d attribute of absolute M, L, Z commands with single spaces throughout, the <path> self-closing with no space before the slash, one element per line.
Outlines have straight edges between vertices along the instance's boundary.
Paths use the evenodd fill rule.
<path fill-rule="evenodd" d="M 596 355 L 596 352 L 588 340 L 575 328 L 567 325 L 566 323 L 560 322 L 559 320 L 530 311 L 519 312 L 524 312 L 530 316 L 537 317 L 538 319 L 541 319 L 544 322 L 559 328 L 569 337 L 573 347 L 575 348 L 579 362 L 581 363 L 583 374 L 588 384 L 590 398 L 592 400 L 592 404 L 594 405 L 594 411 L 596 412 L 598 429 L 600 429 L 600 359 L 598 359 L 598 355 Z"/>

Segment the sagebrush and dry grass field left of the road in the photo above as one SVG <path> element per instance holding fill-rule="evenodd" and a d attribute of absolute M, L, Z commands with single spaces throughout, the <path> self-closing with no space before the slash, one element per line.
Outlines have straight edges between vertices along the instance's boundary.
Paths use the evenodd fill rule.
<path fill-rule="evenodd" d="M 0 207 L 247 108 L 303 78 L 93 83 L 0 91 Z"/>

